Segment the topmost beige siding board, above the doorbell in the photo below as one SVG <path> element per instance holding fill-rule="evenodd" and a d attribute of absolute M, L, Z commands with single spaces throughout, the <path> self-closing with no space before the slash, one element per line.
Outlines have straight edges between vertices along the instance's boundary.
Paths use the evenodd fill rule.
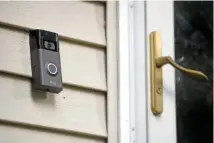
<path fill-rule="evenodd" d="M 0 2 L 0 22 L 106 46 L 105 6 L 89 2 Z"/>

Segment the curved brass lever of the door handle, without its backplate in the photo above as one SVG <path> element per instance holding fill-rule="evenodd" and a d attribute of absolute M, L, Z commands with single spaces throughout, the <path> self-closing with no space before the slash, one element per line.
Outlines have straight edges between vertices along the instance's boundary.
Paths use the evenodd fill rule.
<path fill-rule="evenodd" d="M 178 65 L 175 61 L 173 61 L 173 59 L 170 56 L 156 58 L 156 66 L 158 68 L 161 68 L 165 64 L 172 65 L 174 68 L 178 69 L 182 73 L 186 74 L 187 76 L 189 76 L 195 80 L 208 81 L 208 77 L 204 73 L 202 73 L 200 71 L 184 68 L 184 67 Z"/>

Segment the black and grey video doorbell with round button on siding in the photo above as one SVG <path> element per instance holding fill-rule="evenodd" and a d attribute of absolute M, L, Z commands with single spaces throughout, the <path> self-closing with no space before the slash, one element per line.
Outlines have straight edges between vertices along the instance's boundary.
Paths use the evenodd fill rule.
<path fill-rule="evenodd" d="M 58 34 L 30 30 L 30 54 L 33 87 L 51 93 L 62 91 L 62 73 Z"/>

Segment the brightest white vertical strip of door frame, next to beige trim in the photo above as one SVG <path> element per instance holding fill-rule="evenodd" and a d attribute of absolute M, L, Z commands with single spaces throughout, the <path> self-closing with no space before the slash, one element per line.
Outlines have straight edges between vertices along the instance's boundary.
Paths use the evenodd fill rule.
<path fill-rule="evenodd" d="M 119 142 L 130 143 L 128 1 L 118 3 Z"/>

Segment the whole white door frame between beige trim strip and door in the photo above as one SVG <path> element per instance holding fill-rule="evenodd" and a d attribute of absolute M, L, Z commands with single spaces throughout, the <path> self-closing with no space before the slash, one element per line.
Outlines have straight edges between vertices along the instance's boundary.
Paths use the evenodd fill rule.
<path fill-rule="evenodd" d="M 145 1 L 117 4 L 119 143 L 147 143 Z"/>

